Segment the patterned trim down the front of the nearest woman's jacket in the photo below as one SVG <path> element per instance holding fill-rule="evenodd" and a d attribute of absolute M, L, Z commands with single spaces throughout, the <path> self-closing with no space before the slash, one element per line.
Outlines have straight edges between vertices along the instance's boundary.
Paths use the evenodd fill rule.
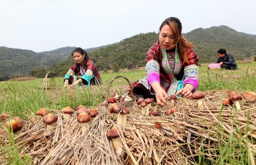
<path fill-rule="evenodd" d="M 180 73 L 180 69 L 182 67 L 182 64 L 180 63 L 180 57 L 179 57 L 179 53 L 178 53 L 178 45 L 176 45 L 176 50 L 175 50 L 175 68 L 174 68 L 174 73 L 172 73 L 171 69 L 170 69 L 170 65 L 168 63 L 168 58 L 167 58 L 167 54 L 166 54 L 166 50 L 162 47 L 162 66 L 164 68 L 164 71 L 169 75 L 170 77 L 170 81 L 171 81 L 171 85 L 170 88 L 168 89 L 167 95 L 174 95 L 176 93 L 177 87 L 178 87 L 178 82 L 177 79 L 175 78 L 174 75 L 177 75 L 178 73 Z"/>

